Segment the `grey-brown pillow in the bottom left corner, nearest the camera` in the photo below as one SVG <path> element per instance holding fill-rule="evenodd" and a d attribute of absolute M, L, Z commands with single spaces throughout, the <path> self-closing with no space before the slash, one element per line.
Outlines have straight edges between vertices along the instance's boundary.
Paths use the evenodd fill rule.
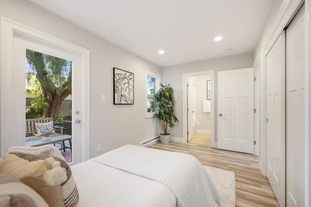
<path fill-rule="evenodd" d="M 49 207 L 35 190 L 3 173 L 0 173 L 0 206 Z"/>

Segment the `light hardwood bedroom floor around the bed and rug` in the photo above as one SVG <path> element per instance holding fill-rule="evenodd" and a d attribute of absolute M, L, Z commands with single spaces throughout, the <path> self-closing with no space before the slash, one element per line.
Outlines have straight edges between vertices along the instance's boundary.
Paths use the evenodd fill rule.
<path fill-rule="evenodd" d="M 196 143 L 161 144 L 150 148 L 187 153 L 195 156 L 203 165 L 221 168 L 235 173 L 237 207 L 277 207 L 276 197 L 266 177 L 259 171 L 258 156 L 218 150 Z"/>

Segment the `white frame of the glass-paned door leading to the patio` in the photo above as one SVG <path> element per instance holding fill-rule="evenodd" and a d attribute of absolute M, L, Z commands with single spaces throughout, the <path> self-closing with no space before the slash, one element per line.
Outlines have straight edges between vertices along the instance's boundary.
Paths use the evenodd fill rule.
<path fill-rule="evenodd" d="M 83 149 L 82 149 L 82 134 L 84 133 L 84 125 L 81 123 L 75 123 L 75 120 L 82 120 L 83 111 L 82 108 L 82 95 L 81 80 L 83 78 L 80 69 L 80 58 L 78 55 L 56 50 L 51 47 L 46 47 L 41 44 L 37 44 L 31 41 L 27 41 L 21 38 L 14 37 L 14 74 L 15 82 L 12 85 L 14 99 L 14 113 L 12 113 L 13 119 L 16 120 L 14 137 L 10 146 L 24 146 L 25 145 L 25 60 L 26 49 L 33 50 L 49 54 L 55 57 L 66 59 L 72 62 L 72 162 L 76 164 L 82 162 Z M 78 111 L 78 113 L 76 113 Z"/>

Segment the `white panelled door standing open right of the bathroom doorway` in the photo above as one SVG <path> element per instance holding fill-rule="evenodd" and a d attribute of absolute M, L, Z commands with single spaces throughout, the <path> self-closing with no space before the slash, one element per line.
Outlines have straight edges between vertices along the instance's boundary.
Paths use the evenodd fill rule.
<path fill-rule="evenodd" d="M 254 154 L 254 69 L 218 72 L 218 149 Z"/>

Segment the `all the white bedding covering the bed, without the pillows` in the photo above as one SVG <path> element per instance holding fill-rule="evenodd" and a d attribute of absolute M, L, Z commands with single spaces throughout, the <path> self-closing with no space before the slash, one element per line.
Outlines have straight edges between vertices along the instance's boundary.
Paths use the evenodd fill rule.
<path fill-rule="evenodd" d="M 84 176 L 87 168 L 91 173 Z M 114 182 L 117 179 L 122 179 L 121 182 L 110 184 L 110 187 L 114 187 L 114 192 L 106 189 L 107 184 L 103 180 L 100 183 L 97 182 L 98 179 L 103 179 L 102 176 L 106 176 L 104 171 L 111 172 L 109 173 L 111 177 L 106 181 Z M 174 203 L 176 200 L 177 206 L 183 207 L 218 206 L 218 194 L 209 175 L 195 157 L 187 154 L 125 145 L 73 166 L 72 173 L 81 201 L 86 201 L 84 188 L 90 190 L 90 186 L 87 186 L 86 183 L 98 186 L 98 188 L 102 186 L 104 190 L 95 191 L 94 195 L 87 199 L 89 202 L 96 202 L 103 206 L 176 206 Z M 121 174 L 124 176 L 120 177 Z M 136 179 L 135 185 L 129 184 L 131 180 Z M 132 184 L 134 183 L 132 182 Z M 123 189 L 126 187 L 128 190 L 125 193 Z M 151 190 L 149 187 L 153 189 Z M 137 188 L 144 190 L 139 192 L 142 193 L 140 197 L 139 195 L 133 197 Z M 147 193 L 149 195 L 146 196 L 144 192 L 147 189 L 150 190 L 148 191 L 150 194 Z M 163 189 L 165 193 L 161 193 Z M 124 196 L 128 198 L 122 199 Z M 98 199 L 102 203 L 98 203 Z M 153 201 L 145 201 L 148 199 Z M 119 202 L 120 200 L 125 203 Z M 135 201 L 138 203 L 135 204 Z"/>

